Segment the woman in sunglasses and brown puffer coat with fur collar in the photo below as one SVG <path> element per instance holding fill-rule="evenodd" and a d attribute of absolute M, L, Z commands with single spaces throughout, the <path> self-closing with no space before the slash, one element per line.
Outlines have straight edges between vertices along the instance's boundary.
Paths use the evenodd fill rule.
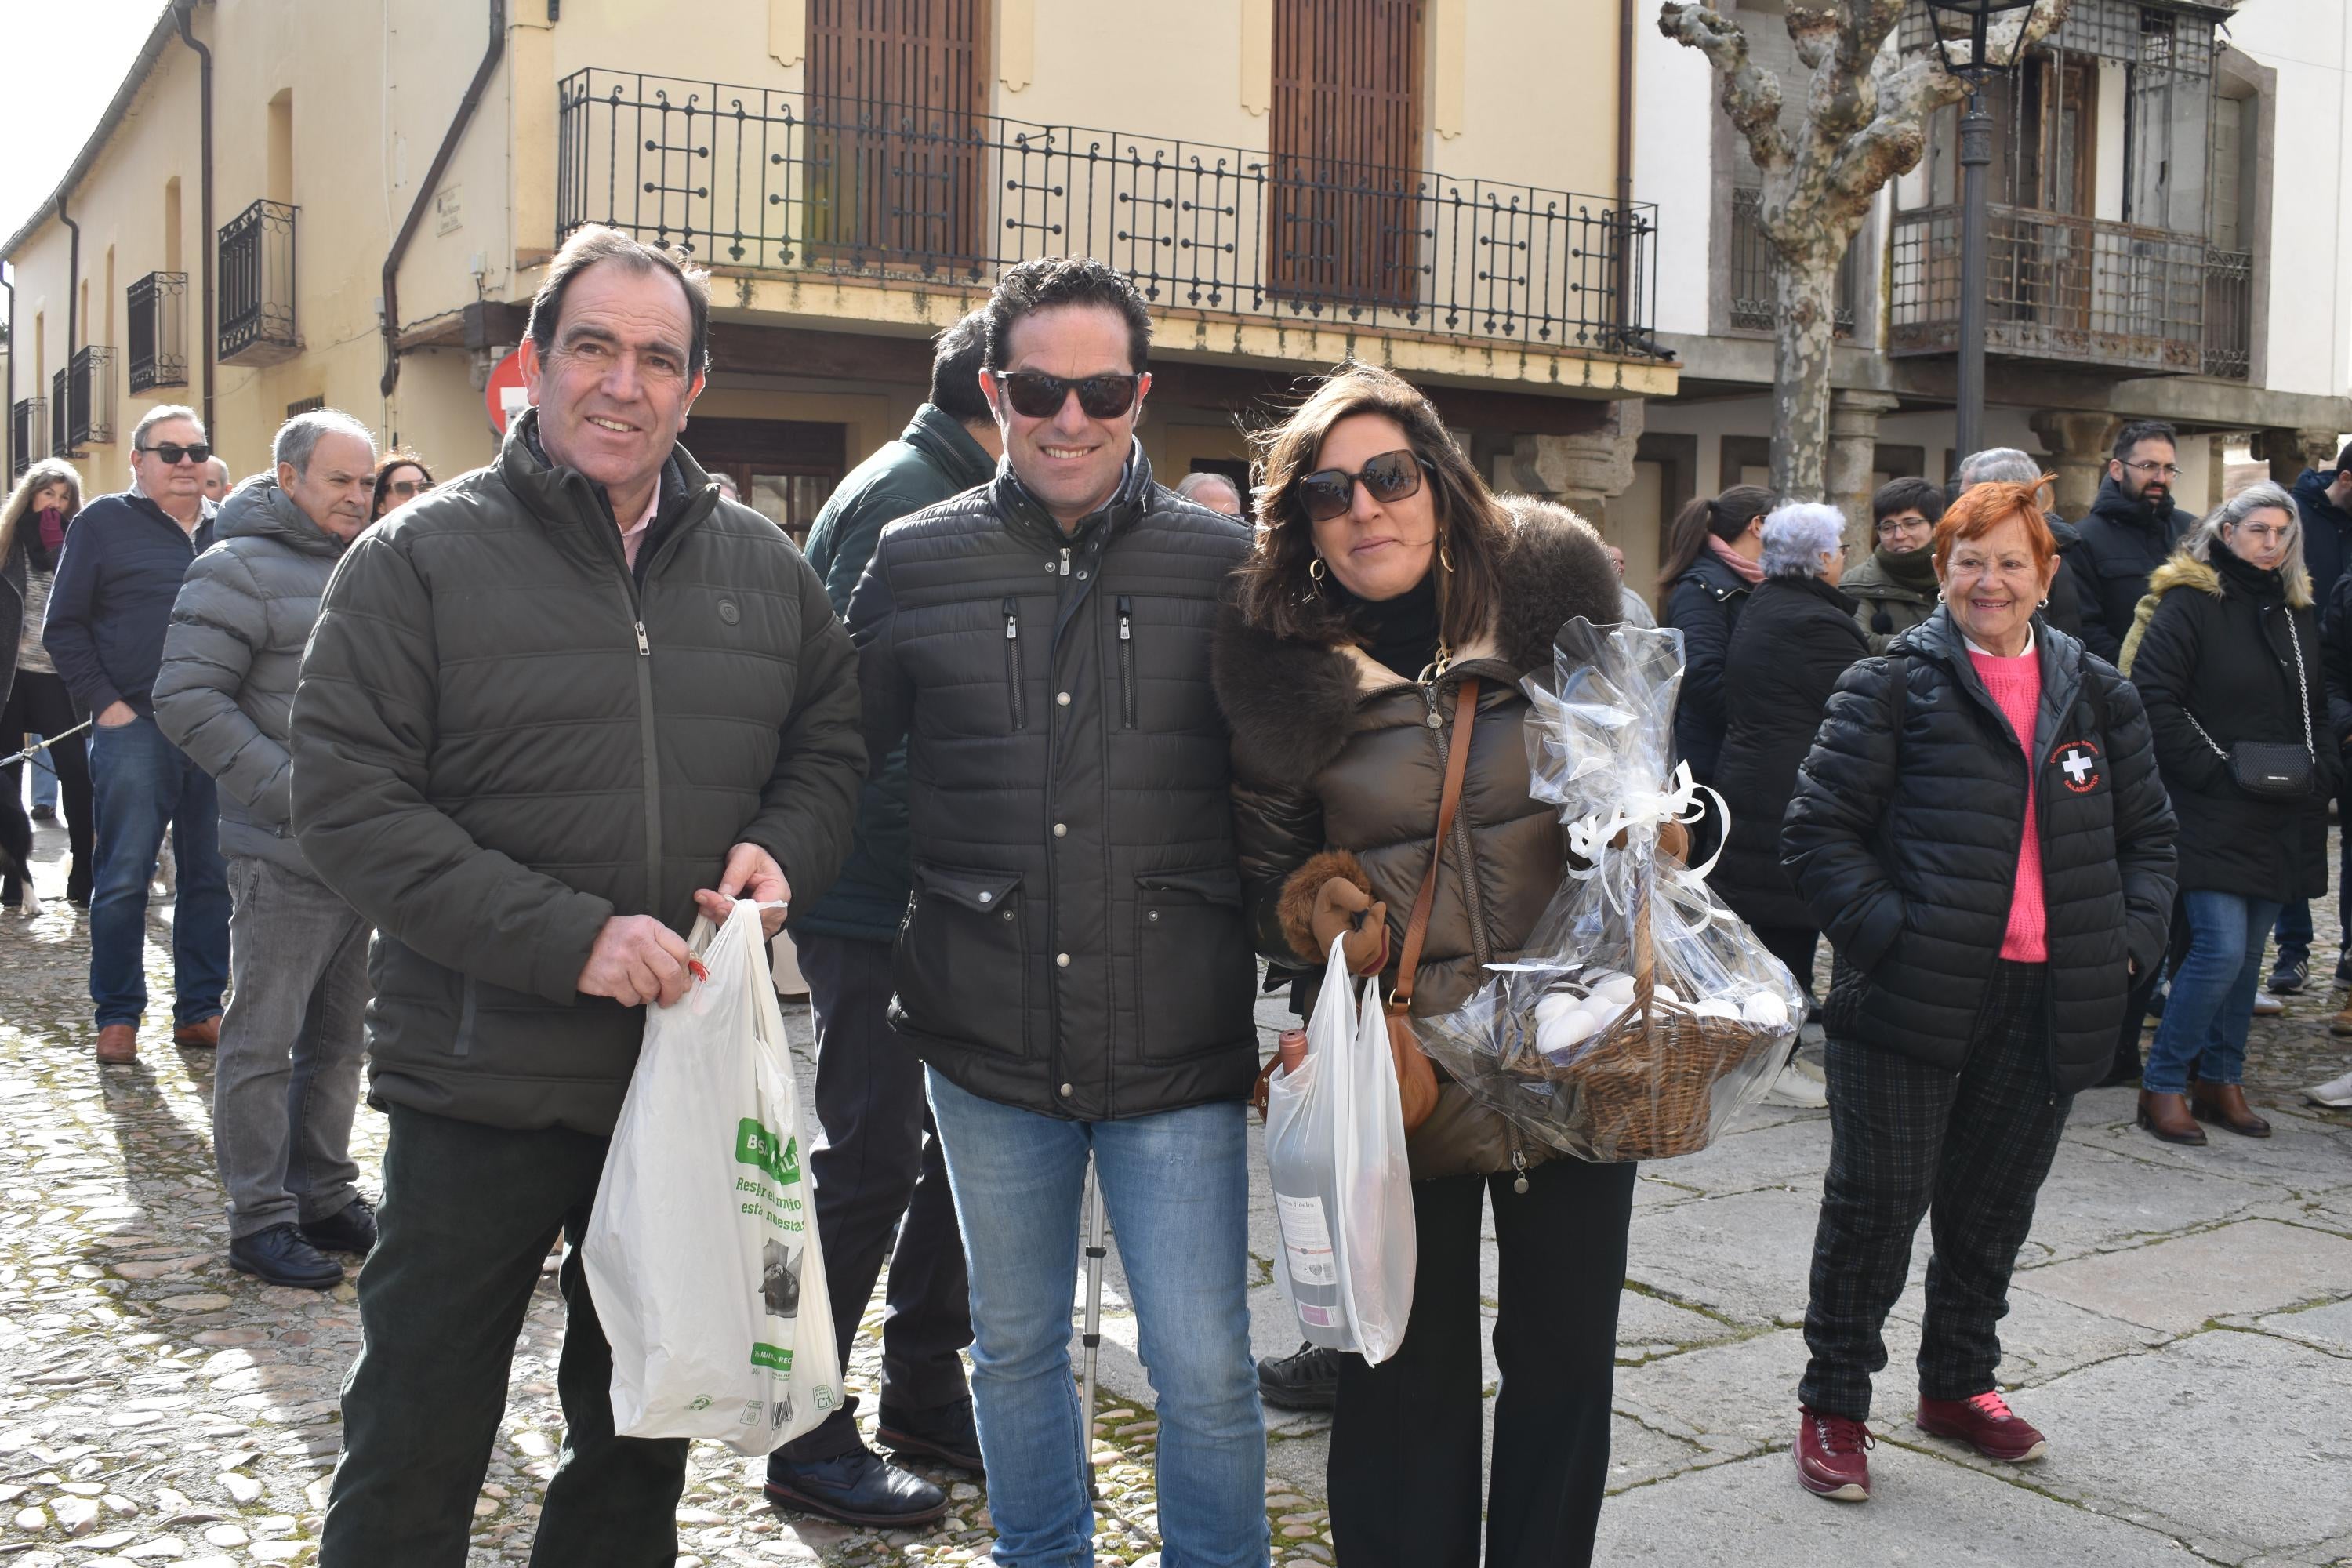
<path fill-rule="evenodd" d="M 1395 987 L 1437 832 L 1456 696 L 1470 759 L 1411 1011 L 1446 1013 L 1510 959 L 1559 889 L 1555 806 L 1529 799 L 1529 701 L 1552 635 L 1613 623 L 1618 578 L 1571 512 L 1512 515 L 1397 376 L 1352 364 L 1265 437 L 1258 541 L 1218 628 L 1235 839 L 1258 950 L 1305 971 L 1371 907 L 1350 959 Z M 1383 940 L 1385 938 L 1385 940 Z M 1503 1371 L 1484 1500 L 1494 1568 L 1585 1563 L 1609 1474 L 1630 1164 L 1552 1159 L 1439 1077 L 1411 1131 L 1418 1276 L 1381 1366 L 1338 1356 L 1331 1528 L 1350 1568 L 1479 1561 L 1479 1206 L 1501 1246 Z"/>

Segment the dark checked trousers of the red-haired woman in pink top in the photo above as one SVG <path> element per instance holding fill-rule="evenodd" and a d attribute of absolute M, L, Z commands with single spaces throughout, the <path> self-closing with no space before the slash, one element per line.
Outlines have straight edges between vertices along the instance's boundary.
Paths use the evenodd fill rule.
<path fill-rule="evenodd" d="M 1922 1399 L 1994 1387 L 2009 1276 L 2034 1222 L 2072 1095 L 2051 1084 L 2049 966 L 1992 966 L 1957 1074 L 1830 1037 L 1830 1173 L 1813 1232 L 1813 1352 L 1797 1396 L 1865 1420 L 1886 1366 L 1879 1328 L 1903 1295 L 1912 1234 L 1931 1215 Z"/>

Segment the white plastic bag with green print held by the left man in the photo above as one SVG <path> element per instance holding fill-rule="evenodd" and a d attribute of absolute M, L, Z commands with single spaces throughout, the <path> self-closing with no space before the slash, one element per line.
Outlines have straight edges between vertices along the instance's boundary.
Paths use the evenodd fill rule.
<path fill-rule="evenodd" d="M 614 1429 L 769 1453 L 842 1401 L 809 1143 L 760 907 L 687 945 L 699 973 L 647 1009 L 581 1262 Z"/>

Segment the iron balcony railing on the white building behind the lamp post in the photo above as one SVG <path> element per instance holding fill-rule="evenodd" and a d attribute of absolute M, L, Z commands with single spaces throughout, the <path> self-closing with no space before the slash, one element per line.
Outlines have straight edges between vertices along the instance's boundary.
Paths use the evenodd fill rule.
<path fill-rule="evenodd" d="M 1992 207 L 1985 348 L 2140 374 L 2244 376 L 2251 259 L 2197 235 Z M 1891 350 L 1959 341 L 1959 207 L 1896 216 Z M 2230 369 L 2234 364 L 2234 369 Z"/>

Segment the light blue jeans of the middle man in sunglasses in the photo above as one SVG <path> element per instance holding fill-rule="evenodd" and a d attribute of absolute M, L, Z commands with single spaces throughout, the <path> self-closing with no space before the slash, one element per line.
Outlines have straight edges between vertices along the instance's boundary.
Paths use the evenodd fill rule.
<path fill-rule="evenodd" d="M 1160 1413 L 1164 1568 L 1265 1568 L 1265 1418 L 1249 1356 L 1240 1100 L 1058 1121 L 931 1072 L 971 1272 L 971 1403 L 1004 1568 L 1094 1561 L 1070 1380 L 1080 1197 L 1094 1150 Z"/>

